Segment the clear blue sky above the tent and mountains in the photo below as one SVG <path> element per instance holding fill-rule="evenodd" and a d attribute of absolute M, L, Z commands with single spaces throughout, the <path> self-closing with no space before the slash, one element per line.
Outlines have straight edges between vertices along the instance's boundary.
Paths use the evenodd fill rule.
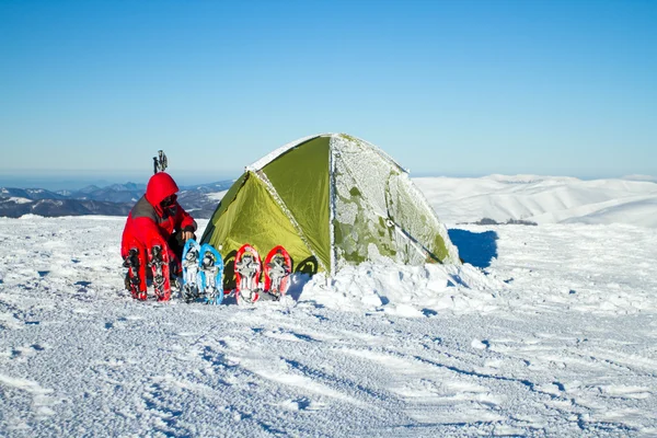
<path fill-rule="evenodd" d="M 0 180 L 209 182 L 341 131 L 413 176 L 657 175 L 655 1 L 0 1 Z M 194 173 L 197 176 L 192 176 Z"/>

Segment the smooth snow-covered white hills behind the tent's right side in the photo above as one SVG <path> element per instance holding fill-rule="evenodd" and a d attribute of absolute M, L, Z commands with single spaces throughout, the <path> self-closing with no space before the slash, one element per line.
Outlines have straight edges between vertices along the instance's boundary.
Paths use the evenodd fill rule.
<path fill-rule="evenodd" d="M 420 177 L 414 182 L 448 223 L 491 218 L 498 222 L 516 219 L 657 228 L 654 182 L 535 175 Z"/>

